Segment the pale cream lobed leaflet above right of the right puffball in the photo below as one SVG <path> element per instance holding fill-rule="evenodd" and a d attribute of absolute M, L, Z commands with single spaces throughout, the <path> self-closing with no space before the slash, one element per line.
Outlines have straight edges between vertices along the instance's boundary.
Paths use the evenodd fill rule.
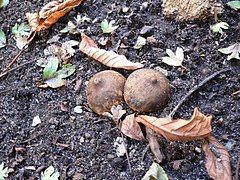
<path fill-rule="evenodd" d="M 167 49 L 166 53 L 169 57 L 162 57 L 162 61 L 170 66 L 182 66 L 182 62 L 184 59 L 183 49 L 177 47 L 176 55 L 173 53 L 171 49 Z"/>

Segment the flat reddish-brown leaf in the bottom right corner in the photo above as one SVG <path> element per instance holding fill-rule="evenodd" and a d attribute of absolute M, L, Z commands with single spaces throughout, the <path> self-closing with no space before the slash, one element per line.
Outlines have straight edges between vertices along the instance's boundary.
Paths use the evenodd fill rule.
<path fill-rule="evenodd" d="M 231 180 L 230 156 L 227 149 L 213 136 L 203 140 L 203 151 L 206 155 L 206 169 L 213 179 Z"/>

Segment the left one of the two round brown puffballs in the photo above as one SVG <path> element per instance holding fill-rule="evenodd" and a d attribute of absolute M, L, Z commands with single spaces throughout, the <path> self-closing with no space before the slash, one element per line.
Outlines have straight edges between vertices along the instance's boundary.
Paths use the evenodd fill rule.
<path fill-rule="evenodd" d="M 112 70 L 95 74 L 88 83 L 87 102 L 97 114 L 110 112 L 113 105 L 122 103 L 125 77 Z"/>

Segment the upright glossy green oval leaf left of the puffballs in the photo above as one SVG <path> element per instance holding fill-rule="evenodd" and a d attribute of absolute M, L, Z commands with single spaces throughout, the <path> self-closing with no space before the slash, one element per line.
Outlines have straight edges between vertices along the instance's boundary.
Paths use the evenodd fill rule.
<path fill-rule="evenodd" d="M 53 78 L 58 69 L 58 58 L 51 56 L 45 68 L 43 69 L 43 79 Z"/>

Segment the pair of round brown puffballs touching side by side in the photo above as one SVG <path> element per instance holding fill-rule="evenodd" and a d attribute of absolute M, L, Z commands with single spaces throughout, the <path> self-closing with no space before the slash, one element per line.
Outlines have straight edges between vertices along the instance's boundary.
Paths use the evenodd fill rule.
<path fill-rule="evenodd" d="M 87 101 L 97 114 L 109 112 L 113 105 L 124 102 L 138 112 L 162 109 L 171 96 L 167 78 L 157 70 L 139 69 L 127 80 L 116 71 L 95 74 L 87 87 Z"/>

